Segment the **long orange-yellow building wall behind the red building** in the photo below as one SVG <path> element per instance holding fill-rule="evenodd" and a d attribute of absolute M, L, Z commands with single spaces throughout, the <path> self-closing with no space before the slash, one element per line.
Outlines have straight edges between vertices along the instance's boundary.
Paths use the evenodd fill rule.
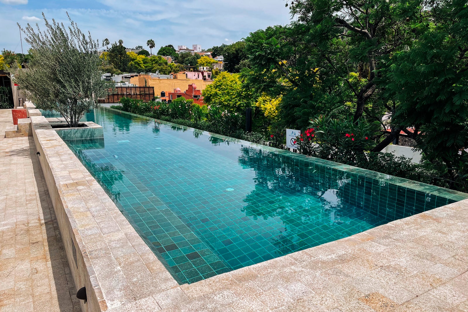
<path fill-rule="evenodd" d="M 183 91 L 187 90 L 189 85 L 192 83 L 197 85 L 197 90 L 205 90 L 206 86 L 211 84 L 213 81 L 206 81 L 201 79 L 157 79 L 150 78 L 149 75 L 138 75 L 138 77 L 132 77 L 130 83 L 135 84 L 138 87 L 154 87 L 154 95 L 161 96 L 161 91 L 174 92 L 175 88 L 179 88 Z M 146 83 L 146 84 L 145 84 Z"/>

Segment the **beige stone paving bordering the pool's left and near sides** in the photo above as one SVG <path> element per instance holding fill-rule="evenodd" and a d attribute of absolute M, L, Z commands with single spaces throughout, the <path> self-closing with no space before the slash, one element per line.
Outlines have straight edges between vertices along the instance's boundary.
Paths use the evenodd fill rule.
<path fill-rule="evenodd" d="M 84 311 L 428 311 L 434 305 L 441 311 L 466 311 L 468 307 L 468 201 L 178 285 L 47 120 L 43 116 L 31 120 L 41 163 L 50 165 L 76 252 L 84 259 L 99 300 L 95 310 Z M 45 170 L 44 175 L 48 180 Z M 60 207 L 54 204 L 54 208 Z"/>

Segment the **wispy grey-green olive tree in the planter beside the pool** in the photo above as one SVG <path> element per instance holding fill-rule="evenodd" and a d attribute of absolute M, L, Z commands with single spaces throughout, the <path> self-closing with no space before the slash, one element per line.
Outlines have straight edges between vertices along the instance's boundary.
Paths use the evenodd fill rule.
<path fill-rule="evenodd" d="M 97 99 L 107 95 L 111 86 L 101 80 L 99 42 L 84 34 L 71 20 L 70 25 L 47 21 L 45 30 L 31 25 L 25 41 L 33 58 L 27 70 L 12 70 L 15 83 L 26 90 L 28 98 L 40 109 L 58 111 L 70 127 L 78 126 L 86 111 L 98 107 Z"/>

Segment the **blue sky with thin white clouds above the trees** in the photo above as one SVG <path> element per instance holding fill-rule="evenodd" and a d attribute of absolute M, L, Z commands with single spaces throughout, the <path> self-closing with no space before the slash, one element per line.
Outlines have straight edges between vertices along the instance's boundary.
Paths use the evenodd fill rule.
<path fill-rule="evenodd" d="M 156 49 L 172 44 L 202 48 L 229 44 L 249 32 L 290 22 L 285 0 L 0 0 L 0 50 L 21 52 L 19 31 L 29 23 L 48 19 L 66 22 L 66 12 L 81 30 L 94 39 L 124 40 L 126 47 L 146 46 L 152 38 Z M 24 44 L 26 51 L 28 46 Z"/>

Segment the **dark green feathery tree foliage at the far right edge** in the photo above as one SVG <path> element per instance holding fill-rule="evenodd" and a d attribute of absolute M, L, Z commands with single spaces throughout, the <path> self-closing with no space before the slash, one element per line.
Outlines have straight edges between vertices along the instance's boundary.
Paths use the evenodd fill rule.
<path fill-rule="evenodd" d="M 397 128 L 414 128 L 413 138 L 424 158 L 431 162 L 442 160 L 450 179 L 466 179 L 466 1 L 438 1 L 422 29 L 424 32 L 411 49 L 395 53 L 382 81 L 388 97 L 398 104 L 393 123 Z"/>

